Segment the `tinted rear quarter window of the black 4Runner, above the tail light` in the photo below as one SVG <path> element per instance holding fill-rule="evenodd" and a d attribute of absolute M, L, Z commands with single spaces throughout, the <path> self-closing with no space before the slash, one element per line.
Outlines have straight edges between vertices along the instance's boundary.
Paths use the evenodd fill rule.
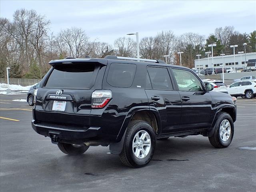
<path fill-rule="evenodd" d="M 108 71 L 107 82 L 113 87 L 130 87 L 135 72 L 135 64 L 112 63 Z"/>

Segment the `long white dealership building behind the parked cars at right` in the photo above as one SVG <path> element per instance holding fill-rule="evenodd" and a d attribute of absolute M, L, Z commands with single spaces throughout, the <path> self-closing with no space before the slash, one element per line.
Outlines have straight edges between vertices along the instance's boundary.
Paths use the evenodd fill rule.
<path fill-rule="evenodd" d="M 245 64 L 245 58 L 246 58 L 246 63 L 248 62 L 249 59 L 256 59 L 256 52 L 252 53 L 246 53 L 246 54 L 235 54 L 234 55 L 224 55 L 224 68 L 227 67 L 246 67 Z M 236 64 L 234 64 L 234 62 Z M 214 68 L 222 68 L 222 56 L 216 56 L 213 57 L 213 66 Z M 200 69 L 205 69 L 205 68 L 212 68 L 212 57 L 209 57 L 209 59 L 202 58 L 200 60 L 195 59 L 195 68 L 198 69 L 200 64 Z"/>

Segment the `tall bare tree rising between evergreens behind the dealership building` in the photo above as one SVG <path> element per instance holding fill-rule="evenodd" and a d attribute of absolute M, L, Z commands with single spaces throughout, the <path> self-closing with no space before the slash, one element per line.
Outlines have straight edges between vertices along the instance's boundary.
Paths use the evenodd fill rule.
<path fill-rule="evenodd" d="M 224 47 L 224 53 L 229 53 L 230 48 L 228 46 L 228 43 L 230 41 L 230 37 L 234 34 L 234 26 L 216 28 L 214 34 L 220 40 L 222 46 Z"/>

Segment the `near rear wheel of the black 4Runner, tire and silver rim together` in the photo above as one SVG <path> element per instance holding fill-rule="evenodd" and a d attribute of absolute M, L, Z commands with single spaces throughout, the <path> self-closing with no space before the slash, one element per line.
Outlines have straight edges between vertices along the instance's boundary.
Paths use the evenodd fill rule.
<path fill-rule="evenodd" d="M 156 134 L 148 122 L 134 120 L 127 127 L 120 160 L 129 167 L 146 166 L 154 154 Z"/>

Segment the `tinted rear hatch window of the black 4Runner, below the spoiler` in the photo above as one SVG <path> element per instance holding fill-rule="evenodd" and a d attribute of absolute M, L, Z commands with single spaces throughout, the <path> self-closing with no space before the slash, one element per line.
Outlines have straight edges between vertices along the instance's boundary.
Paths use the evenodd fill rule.
<path fill-rule="evenodd" d="M 93 86 L 95 64 L 62 65 L 54 67 L 45 87 L 50 88 L 85 88 Z"/>

